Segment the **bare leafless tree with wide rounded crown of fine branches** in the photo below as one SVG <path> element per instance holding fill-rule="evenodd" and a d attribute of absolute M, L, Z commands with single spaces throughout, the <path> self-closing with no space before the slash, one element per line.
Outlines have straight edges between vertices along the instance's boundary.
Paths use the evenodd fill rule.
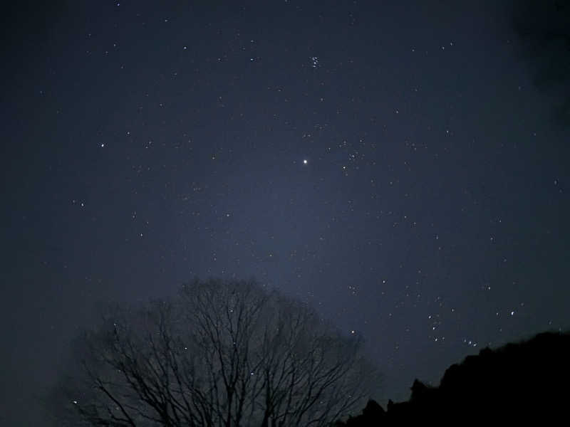
<path fill-rule="evenodd" d="M 378 386 L 361 339 L 254 282 L 195 280 L 82 342 L 65 403 L 91 426 L 328 426 Z"/>

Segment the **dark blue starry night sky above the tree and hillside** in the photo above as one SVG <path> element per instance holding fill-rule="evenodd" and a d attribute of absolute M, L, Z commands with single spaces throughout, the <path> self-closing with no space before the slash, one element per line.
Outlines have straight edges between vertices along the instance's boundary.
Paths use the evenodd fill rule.
<path fill-rule="evenodd" d="M 381 402 L 570 326 L 570 126 L 518 6 L 35 3 L 3 17 L 5 425 L 102 302 L 195 276 L 362 334 Z"/>

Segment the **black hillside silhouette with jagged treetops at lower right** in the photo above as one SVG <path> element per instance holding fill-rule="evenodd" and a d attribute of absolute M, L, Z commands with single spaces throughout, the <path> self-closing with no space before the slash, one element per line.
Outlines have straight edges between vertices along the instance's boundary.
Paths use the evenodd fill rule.
<path fill-rule="evenodd" d="M 489 423 L 566 420 L 570 404 L 570 332 L 544 332 L 498 349 L 482 349 L 445 371 L 440 386 L 416 379 L 409 401 L 368 401 L 363 413 L 338 426 L 407 423 Z"/>

